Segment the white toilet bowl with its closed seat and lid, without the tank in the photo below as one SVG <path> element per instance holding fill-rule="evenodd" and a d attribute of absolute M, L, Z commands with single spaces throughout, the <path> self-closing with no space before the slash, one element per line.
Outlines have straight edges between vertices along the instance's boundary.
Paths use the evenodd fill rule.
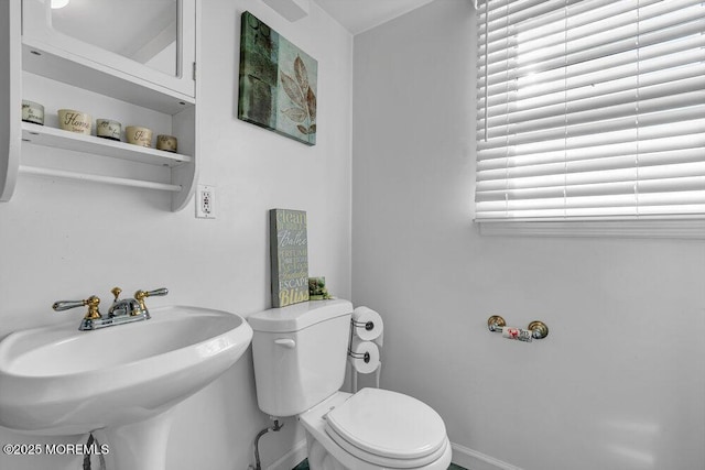
<path fill-rule="evenodd" d="M 337 392 L 299 416 L 306 430 L 308 466 L 325 470 L 446 470 L 451 444 L 441 417 L 400 393 Z"/>

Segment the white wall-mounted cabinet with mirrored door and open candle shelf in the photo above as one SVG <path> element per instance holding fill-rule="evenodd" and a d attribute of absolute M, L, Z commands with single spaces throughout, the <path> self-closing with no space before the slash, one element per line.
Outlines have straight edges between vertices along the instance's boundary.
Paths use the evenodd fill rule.
<path fill-rule="evenodd" d="M 26 173 L 161 189 L 183 208 L 198 164 L 199 0 L 152 0 L 138 15 L 113 0 L 0 3 L 0 200 Z M 44 106 L 44 125 L 21 121 L 22 99 Z M 93 135 L 61 130 L 63 108 L 89 113 Z M 121 122 L 122 141 L 96 136 L 98 118 Z M 127 125 L 175 135 L 178 153 L 126 143 Z"/>

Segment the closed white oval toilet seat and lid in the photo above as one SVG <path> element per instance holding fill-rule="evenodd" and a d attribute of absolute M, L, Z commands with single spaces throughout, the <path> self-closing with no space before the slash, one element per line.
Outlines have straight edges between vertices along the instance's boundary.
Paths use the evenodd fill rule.
<path fill-rule="evenodd" d="M 447 450 L 445 425 L 425 403 L 362 389 L 325 416 L 326 434 L 357 458 L 386 468 L 417 468 Z"/>

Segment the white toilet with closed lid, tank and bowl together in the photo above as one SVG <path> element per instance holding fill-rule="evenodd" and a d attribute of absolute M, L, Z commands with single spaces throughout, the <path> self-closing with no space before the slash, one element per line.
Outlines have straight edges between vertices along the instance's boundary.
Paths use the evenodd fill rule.
<path fill-rule="evenodd" d="M 339 392 L 352 305 L 316 300 L 248 318 L 262 412 L 299 416 L 313 470 L 446 470 L 451 444 L 429 405 L 400 393 Z"/>

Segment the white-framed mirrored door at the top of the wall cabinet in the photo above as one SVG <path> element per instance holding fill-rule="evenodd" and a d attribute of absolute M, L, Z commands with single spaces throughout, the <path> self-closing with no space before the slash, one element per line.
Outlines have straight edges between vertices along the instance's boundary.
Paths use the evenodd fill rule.
<path fill-rule="evenodd" d="M 23 41 L 193 97 L 194 0 L 23 0 Z"/>

